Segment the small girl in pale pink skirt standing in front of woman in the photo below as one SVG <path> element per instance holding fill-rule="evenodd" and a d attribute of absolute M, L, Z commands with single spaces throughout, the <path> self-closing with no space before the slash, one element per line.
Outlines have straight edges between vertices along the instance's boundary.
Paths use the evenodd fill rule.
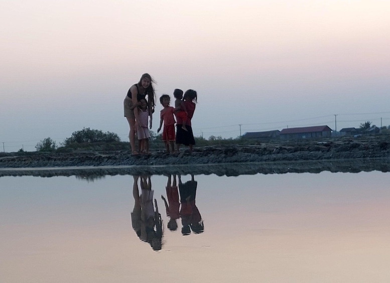
<path fill-rule="evenodd" d="M 139 141 L 139 148 L 142 154 L 149 154 L 149 130 L 148 130 L 148 117 L 150 117 L 150 128 L 152 129 L 152 116 L 148 109 L 148 102 L 145 98 L 140 100 L 138 110 L 138 128 L 137 137 Z"/>

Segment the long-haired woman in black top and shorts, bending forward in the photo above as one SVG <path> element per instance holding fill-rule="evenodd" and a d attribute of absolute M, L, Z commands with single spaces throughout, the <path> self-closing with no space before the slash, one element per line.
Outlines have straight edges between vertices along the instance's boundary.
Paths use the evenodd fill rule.
<path fill-rule="evenodd" d="M 148 101 L 148 109 L 150 111 L 150 128 L 152 129 L 152 113 L 155 111 L 155 89 L 153 87 L 153 79 L 149 74 L 143 74 L 138 84 L 131 86 L 123 101 L 124 117 L 126 117 L 130 132 L 128 138 L 132 148 L 132 154 L 139 154 L 136 149 L 136 131 L 138 128 L 138 105 L 141 99 L 145 98 Z M 146 98 L 148 97 L 148 98 Z"/>

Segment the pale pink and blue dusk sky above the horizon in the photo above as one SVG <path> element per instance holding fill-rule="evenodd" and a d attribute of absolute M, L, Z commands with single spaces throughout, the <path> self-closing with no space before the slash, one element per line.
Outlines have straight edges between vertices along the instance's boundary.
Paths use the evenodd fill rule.
<path fill-rule="evenodd" d="M 0 0 L 0 151 L 84 127 L 128 140 L 123 99 L 143 73 L 157 99 L 198 92 L 204 138 L 390 125 L 389 14 L 384 0 Z"/>

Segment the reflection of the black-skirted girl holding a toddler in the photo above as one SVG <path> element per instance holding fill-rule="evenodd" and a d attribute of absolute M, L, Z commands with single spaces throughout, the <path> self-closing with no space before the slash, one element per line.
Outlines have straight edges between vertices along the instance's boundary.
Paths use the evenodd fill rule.
<path fill-rule="evenodd" d="M 195 204 L 197 185 L 198 182 L 194 180 L 193 174 L 191 174 L 191 180 L 184 184 L 179 175 L 180 217 L 182 219 L 183 235 L 190 234 L 191 230 L 196 234 L 204 231 L 202 216 Z"/>

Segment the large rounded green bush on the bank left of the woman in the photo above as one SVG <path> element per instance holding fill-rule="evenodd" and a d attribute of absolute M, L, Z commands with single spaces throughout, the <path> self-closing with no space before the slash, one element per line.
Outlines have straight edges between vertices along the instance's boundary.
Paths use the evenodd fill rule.
<path fill-rule="evenodd" d="M 93 143 L 93 142 L 115 142 L 120 141 L 117 134 L 106 132 L 103 133 L 100 130 L 93 130 L 90 128 L 83 128 L 81 131 L 72 133 L 70 138 L 66 138 L 63 142 L 64 146 L 72 143 Z"/>

